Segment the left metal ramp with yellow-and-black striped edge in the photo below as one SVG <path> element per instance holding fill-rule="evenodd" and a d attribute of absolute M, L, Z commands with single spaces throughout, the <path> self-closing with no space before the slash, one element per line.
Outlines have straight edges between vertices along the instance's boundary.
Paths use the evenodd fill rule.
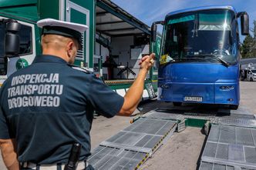
<path fill-rule="evenodd" d="M 95 169 L 137 169 L 176 127 L 177 121 L 140 118 L 94 149 L 89 165 Z"/>

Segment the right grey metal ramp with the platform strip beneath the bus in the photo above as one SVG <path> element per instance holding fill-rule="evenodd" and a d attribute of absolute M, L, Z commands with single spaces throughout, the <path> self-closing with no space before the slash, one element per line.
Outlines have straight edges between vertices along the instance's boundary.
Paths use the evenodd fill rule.
<path fill-rule="evenodd" d="M 177 120 L 179 125 L 188 119 L 206 120 L 211 131 L 201 156 L 199 170 L 251 170 L 256 169 L 256 119 L 254 115 L 234 113 L 213 115 L 194 112 L 153 110 L 146 118 Z M 184 129 L 184 128 L 183 128 Z"/>

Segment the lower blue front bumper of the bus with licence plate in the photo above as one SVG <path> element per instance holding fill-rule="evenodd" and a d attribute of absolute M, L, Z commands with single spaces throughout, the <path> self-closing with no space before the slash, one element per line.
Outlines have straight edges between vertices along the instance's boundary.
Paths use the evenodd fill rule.
<path fill-rule="evenodd" d="M 158 99 L 165 102 L 239 105 L 239 98 L 237 82 L 167 82 L 158 86 Z"/>

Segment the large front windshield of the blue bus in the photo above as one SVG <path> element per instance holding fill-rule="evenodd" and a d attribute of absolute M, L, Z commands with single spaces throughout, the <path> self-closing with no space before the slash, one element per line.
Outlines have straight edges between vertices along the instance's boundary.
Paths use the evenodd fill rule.
<path fill-rule="evenodd" d="M 173 15 L 163 28 L 160 64 L 169 62 L 237 63 L 237 23 L 230 10 Z"/>

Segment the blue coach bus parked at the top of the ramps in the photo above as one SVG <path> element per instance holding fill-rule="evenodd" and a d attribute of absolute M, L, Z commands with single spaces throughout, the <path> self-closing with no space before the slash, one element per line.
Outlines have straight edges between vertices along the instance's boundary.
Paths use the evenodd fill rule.
<path fill-rule="evenodd" d="M 239 32 L 248 35 L 248 14 L 231 6 L 207 6 L 170 12 L 163 25 L 158 69 L 158 99 L 182 103 L 223 104 L 237 109 Z"/>

